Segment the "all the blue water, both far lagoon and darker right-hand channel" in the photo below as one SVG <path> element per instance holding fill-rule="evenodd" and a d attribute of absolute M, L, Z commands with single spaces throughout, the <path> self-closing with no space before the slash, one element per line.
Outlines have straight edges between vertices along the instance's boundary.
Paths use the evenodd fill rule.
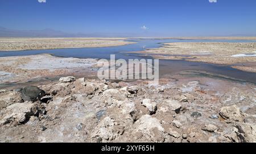
<path fill-rule="evenodd" d="M 52 54 L 60 57 L 77 57 L 93 59 L 110 59 L 110 55 L 115 55 L 115 59 L 151 59 L 150 56 L 141 56 L 138 53 L 129 53 L 131 51 L 143 51 L 148 48 L 162 47 L 162 43 L 172 42 L 233 42 L 248 43 L 256 40 L 183 40 L 183 39 L 129 39 L 135 44 L 121 45 L 115 47 L 99 48 L 65 48 L 65 49 L 42 49 L 29 51 L 1 51 L 0 57 L 5 56 L 27 56 L 42 53 Z M 128 52 L 128 53 L 122 53 Z M 183 70 L 200 70 L 214 74 L 221 74 L 230 78 L 236 78 L 241 81 L 256 83 L 256 73 L 243 72 L 233 69 L 227 65 L 207 64 L 199 62 L 189 62 L 184 60 L 159 60 L 160 76 L 165 74 L 177 73 Z"/>

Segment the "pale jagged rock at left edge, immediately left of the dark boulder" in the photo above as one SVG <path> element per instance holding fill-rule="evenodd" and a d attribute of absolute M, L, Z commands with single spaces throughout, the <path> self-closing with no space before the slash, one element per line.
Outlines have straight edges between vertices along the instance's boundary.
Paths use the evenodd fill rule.
<path fill-rule="evenodd" d="M 14 103 L 22 103 L 21 94 L 16 91 L 2 90 L 0 93 L 0 110 Z"/>

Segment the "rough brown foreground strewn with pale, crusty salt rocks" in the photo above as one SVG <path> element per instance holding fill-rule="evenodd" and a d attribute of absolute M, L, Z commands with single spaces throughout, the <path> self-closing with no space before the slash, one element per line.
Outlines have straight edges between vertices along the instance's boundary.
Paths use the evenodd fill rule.
<path fill-rule="evenodd" d="M 256 142 L 255 85 L 64 77 L 0 91 L 1 142 Z M 197 79 L 197 80 L 196 80 Z"/>

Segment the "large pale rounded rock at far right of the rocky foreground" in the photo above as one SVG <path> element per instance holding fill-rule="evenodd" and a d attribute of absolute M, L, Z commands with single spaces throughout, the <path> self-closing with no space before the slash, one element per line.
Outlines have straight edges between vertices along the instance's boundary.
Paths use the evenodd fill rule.
<path fill-rule="evenodd" d="M 240 109 L 236 106 L 225 106 L 220 110 L 220 116 L 228 121 L 242 122 L 243 118 L 240 113 Z"/>

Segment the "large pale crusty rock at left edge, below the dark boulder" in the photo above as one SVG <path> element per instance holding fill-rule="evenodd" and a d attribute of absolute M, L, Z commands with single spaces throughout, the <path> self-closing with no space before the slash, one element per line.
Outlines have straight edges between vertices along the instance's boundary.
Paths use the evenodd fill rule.
<path fill-rule="evenodd" d="M 15 103 L 6 107 L 0 116 L 0 125 L 7 123 L 22 124 L 36 115 L 38 108 L 32 102 Z"/>

